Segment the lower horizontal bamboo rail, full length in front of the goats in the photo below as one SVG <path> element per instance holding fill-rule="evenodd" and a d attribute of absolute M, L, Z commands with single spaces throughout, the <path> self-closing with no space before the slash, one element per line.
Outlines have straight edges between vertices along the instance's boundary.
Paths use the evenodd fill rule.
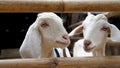
<path fill-rule="evenodd" d="M 120 56 L 9 59 L 0 68 L 120 68 Z"/>

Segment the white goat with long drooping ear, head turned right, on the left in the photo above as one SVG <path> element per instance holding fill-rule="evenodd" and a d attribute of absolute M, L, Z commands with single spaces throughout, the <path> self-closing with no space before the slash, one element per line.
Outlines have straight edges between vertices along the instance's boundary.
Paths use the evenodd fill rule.
<path fill-rule="evenodd" d="M 66 48 L 70 44 L 62 19 L 52 12 L 38 14 L 36 21 L 29 27 L 20 47 L 22 58 L 55 57 L 54 48 Z M 59 49 L 63 52 L 62 49 Z M 61 55 L 62 53 L 60 53 Z"/>

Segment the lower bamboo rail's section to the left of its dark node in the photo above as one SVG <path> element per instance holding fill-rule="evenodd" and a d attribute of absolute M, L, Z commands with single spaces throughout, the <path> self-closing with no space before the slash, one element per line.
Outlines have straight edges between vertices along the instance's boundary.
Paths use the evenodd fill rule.
<path fill-rule="evenodd" d="M 0 68 L 54 68 L 51 59 L 5 59 L 0 60 Z"/>

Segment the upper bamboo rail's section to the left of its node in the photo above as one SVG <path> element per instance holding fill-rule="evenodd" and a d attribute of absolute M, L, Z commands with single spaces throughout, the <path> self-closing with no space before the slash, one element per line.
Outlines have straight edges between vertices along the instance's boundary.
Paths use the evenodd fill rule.
<path fill-rule="evenodd" d="M 0 0 L 0 12 L 62 11 L 61 0 Z"/>

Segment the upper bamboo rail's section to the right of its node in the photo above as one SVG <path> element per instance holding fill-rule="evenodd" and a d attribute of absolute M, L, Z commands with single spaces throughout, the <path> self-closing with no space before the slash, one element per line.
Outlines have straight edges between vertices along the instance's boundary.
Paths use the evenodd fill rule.
<path fill-rule="evenodd" d="M 120 0 L 75 0 L 64 1 L 64 12 L 120 11 Z"/>

